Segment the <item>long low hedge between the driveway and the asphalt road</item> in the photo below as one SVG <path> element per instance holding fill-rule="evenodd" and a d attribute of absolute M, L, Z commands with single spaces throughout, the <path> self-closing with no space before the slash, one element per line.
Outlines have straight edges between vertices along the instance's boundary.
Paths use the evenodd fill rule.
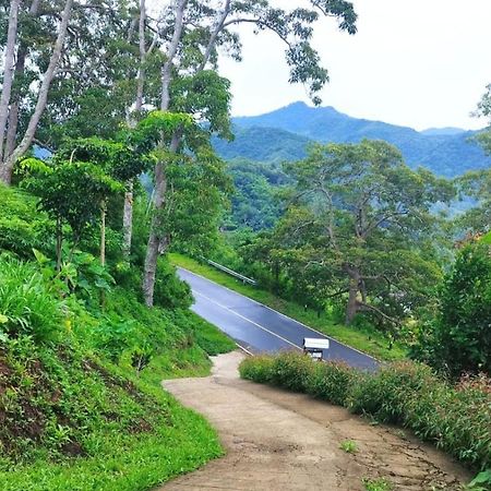
<path fill-rule="evenodd" d="M 466 375 L 452 386 L 421 363 L 359 372 L 295 352 L 248 358 L 239 371 L 243 379 L 306 392 L 352 412 L 403 424 L 472 467 L 491 465 L 491 380 L 486 375 Z"/>

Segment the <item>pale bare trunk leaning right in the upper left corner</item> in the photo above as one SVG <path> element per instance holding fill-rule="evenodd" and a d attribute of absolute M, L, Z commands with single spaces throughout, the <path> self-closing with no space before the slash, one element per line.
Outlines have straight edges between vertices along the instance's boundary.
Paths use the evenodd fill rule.
<path fill-rule="evenodd" d="M 63 13 L 61 14 L 61 23 L 60 29 L 58 32 L 58 37 L 55 43 L 53 51 L 51 53 L 51 58 L 49 60 L 48 69 L 45 72 L 43 77 L 43 83 L 39 88 L 39 94 L 37 96 L 36 107 L 34 109 L 34 113 L 31 117 L 31 120 L 27 125 L 27 130 L 24 134 L 19 146 L 12 152 L 12 154 L 8 157 L 5 163 L 3 164 L 2 173 L 0 179 L 5 183 L 10 183 L 12 179 L 12 169 L 15 161 L 22 157 L 31 144 L 33 143 L 34 135 L 36 133 L 37 125 L 39 123 L 40 117 L 46 108 L 46 104 L 48 101 L 48 92 L 51 85 L 52 79 L 55 76 L 56 70 L 58 68 L 58 63 L 61 58 L 61 52 L 63 50 L 64 40 L 67 37 L 68 24 L 70 21 L 71 12 L 73 7 L 73 0 L 67 0 L 63 9 Z"/>

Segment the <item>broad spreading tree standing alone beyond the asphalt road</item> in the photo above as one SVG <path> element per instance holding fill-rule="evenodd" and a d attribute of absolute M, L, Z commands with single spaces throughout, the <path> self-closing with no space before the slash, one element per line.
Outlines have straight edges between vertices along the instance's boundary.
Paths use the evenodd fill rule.
<path fill-rule="evenodd" d="M 397 325 L 424 304 L 440 278 L 432 206 L 454 195 L 448 181 L 410 170 L 395 147 L 367 140 L 315 145 L 287 169 L 297 197 L 274 254 L 303 291 L 347 296 L 347 324 L 366 312 Z"/>

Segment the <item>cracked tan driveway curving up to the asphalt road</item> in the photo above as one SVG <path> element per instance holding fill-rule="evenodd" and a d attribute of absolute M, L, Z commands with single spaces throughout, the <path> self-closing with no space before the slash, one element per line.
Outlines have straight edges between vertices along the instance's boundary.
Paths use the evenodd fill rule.
<path fill-rule="evenodd" d="M 346 409 L 239 379 L 243 355 L 213 358 L 212 376 L 165 381 L 217 429 L 226 456 L 160 490 L 363 490 L 385 478 L 395 490 L 459 490 L 471 476 L 400 429 Z M 347 440 L 357 452 L 340 448 Z"/>

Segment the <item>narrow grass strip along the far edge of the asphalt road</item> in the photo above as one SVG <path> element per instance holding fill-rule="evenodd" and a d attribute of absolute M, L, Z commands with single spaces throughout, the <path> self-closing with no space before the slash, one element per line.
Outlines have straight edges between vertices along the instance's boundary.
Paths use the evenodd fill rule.
<path fill-rule="evenodd" d="M 230 288 L 231 290 L 264 303 L 278 312 L 296 319 L 297 321 L 327 334 L 342 343 L 352 346 L 354 348 L 372 355 L 375 358 L 387 361 L 407 358 L 407 349 L 404 346 L 394 344 L 392 349 L 388 349 L 388 340 L 375 330 L 336 324 L 325 314 L 318 318 L 316 313 L 311 310 L 304 312 L 303 308 L 298 303 L 280 299 L 270 291 L 261 290 L 251 285 L 244 285 L 232 276 L 206 264 L 201 264 L 184 255 L 177 253 L 169 254 L 169 261 L 176 266 L 184 267 L 219 285 Z"/>

